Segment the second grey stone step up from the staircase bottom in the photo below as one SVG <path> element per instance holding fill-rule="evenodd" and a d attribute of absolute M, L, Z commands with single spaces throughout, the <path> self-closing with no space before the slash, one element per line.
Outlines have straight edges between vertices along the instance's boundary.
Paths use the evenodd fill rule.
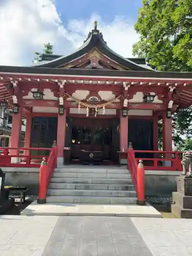
<path fill-rule="evenodd" d="M 48 189 L 48 196 L 73 197 L 136 197 L 136 191 L 131 190 L 83 190 L 83 189 Z"/>

